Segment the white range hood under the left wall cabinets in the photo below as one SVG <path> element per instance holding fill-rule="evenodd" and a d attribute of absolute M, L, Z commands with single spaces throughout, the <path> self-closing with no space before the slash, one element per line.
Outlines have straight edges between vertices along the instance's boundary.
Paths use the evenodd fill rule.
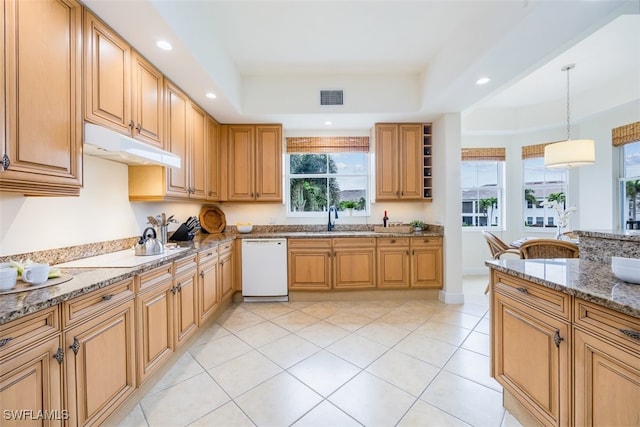
<path fill-rule="evenodd" d="M 129 165 L 180 167 L 180 157 L 93 123 L 84 124 L 84 153 Z"/>

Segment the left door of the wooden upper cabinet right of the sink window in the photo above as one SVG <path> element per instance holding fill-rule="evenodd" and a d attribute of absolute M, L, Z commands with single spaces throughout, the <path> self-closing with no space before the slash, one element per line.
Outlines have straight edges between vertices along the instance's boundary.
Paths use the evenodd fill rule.
<path fill-rule="evenodd" d="M 376 125 L 376 200 L 397 200 L 398 182 L 398 126 Z"/>

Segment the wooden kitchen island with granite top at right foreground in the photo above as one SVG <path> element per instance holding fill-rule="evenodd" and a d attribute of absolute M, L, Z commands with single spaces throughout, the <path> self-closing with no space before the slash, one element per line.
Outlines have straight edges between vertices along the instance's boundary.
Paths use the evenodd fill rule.
<path fill-rule="evenodd" d="M 590 243 L 581 240 L 581 257 L 583 249 L 589 256 Z M 505 408 L 523 425 L 638 425 L 640 285 L 616 279 L 600 260 L 486 265 L 490 368 Z"/>

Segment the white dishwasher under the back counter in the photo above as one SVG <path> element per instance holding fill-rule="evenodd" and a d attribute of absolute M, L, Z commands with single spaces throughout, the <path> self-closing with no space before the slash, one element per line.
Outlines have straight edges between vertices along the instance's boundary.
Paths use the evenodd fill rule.
<path fill-rule="evenodd" d="M 242 239 L 242 296 L 288 301 L 287 239 Z"/>

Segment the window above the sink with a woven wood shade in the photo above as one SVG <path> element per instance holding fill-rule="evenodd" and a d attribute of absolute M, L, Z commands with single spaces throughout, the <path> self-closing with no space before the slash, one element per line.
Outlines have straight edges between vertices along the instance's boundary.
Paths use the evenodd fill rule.
<path fill-rule="evenodd" d="M 345 137 L 287 138 L 288 216 L 320 216 L 329 206 L 368 214 L 368 138 L 355 139 L 366 145 Z"/>

